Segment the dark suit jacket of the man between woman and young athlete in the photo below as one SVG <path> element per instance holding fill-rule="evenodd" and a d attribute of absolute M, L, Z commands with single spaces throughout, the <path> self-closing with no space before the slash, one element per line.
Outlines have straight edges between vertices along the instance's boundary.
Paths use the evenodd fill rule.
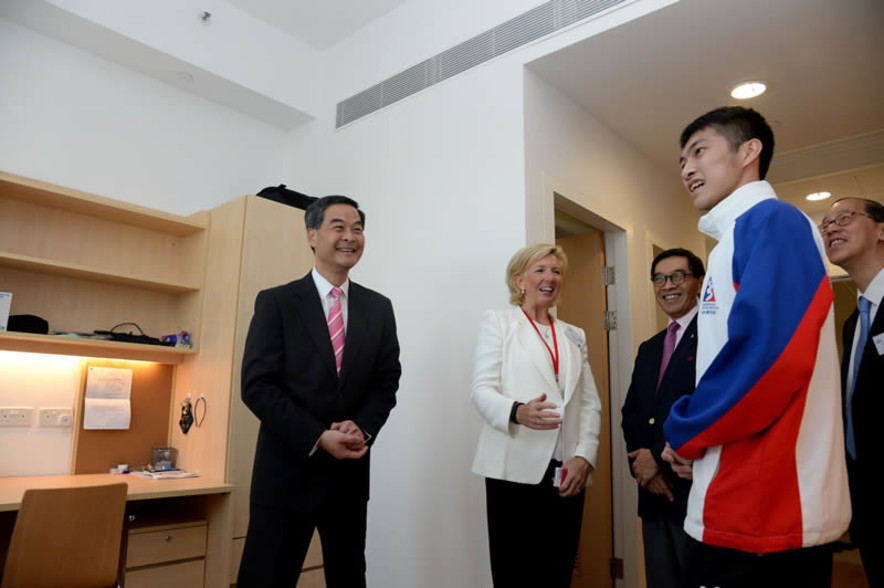
<path fill-rule="evenodd" d="M 693 394 L 696 383 L 697 356 L 697 317 L 688 324 L 681 341 L 672 353 L 666 373 L 657 390 L 657 376 L 660 362 L 663 359 L 663 329 L 638 348 L 635 367 L 632 371 L 632 382 L 623 403 L 623 437 L 626 439 L 627 451 L 646 448 L 651 450 L 654 460 L 660 466 L 663 476 L 669 481 L 675 502 L 669 502 L 665 496 L 651 493 L 639 488 L 638 514 L 648 520 L 668 520 L 682 522 L 687 511 L 688 494 L 691 482 L 682 480 L 673 471 L 672 466 L 660 457 L 666 446 L 663 436 L 663 423 L 669 416 L 672 404 L 686 394 Z M 629 460 L 629 471 L 632 472 Z"/>

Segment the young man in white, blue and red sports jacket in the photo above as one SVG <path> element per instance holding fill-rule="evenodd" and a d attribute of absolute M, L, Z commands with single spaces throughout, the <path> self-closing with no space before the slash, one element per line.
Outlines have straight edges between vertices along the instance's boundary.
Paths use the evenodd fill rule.
<path fill-rule="evenodd" d="M 686 587 L 830 588 L 850 520 L 832 288 L 816 226 L 763 181 L 773 131 L 729 106 L 681 135 L 709 254 L 697 385 L 663 426 L 693 477 Z M 689 460 L 693 460 L 690 462 Z"/>

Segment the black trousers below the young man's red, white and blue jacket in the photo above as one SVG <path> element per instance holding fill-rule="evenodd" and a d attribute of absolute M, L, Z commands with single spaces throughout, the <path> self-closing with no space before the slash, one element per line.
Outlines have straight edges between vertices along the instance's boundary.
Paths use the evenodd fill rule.
<path fill-rule="evenodd" d="M 831 588 L 832 546 L 746 553 L 688 538 L 684 588 Z"/>

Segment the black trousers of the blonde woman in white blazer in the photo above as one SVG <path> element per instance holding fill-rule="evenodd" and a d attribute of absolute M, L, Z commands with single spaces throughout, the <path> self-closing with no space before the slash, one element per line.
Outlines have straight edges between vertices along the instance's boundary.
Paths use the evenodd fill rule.
<path fill-rule="evenodd" d="M 537 485 L 485 478 L 495 588 L 571 585 L 585 493 L 560 497 L 554 467 Z"/>

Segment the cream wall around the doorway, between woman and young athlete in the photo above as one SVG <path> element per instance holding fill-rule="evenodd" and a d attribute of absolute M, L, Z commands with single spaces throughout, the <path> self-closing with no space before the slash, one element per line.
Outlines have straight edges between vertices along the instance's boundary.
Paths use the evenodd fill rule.
<path fill-rule="evenodd" d="M 652 245 L 686 247 L 705 259 L 699 214 L 681 187 L 678 168 L 658 170 L 620 137 L 534 72 L 525 75 L 525 146 L 529 241 L 553 233 L 548 191 L 563 196 L 626 233 L 627 308 L 618 308 L 619 345 L 612 347 L 611 431 L 616 555 L 627 585 L 639 582 L 637 495 L 626 467 L 620 407 L 638 345 L 656 332 L 649 280 Z M 624 340 L 622 337 L 626 337 Z M 618 354 L 619 353 L 619 354 Z M 616 383 L 620 385 L 617 386 Z"/>

